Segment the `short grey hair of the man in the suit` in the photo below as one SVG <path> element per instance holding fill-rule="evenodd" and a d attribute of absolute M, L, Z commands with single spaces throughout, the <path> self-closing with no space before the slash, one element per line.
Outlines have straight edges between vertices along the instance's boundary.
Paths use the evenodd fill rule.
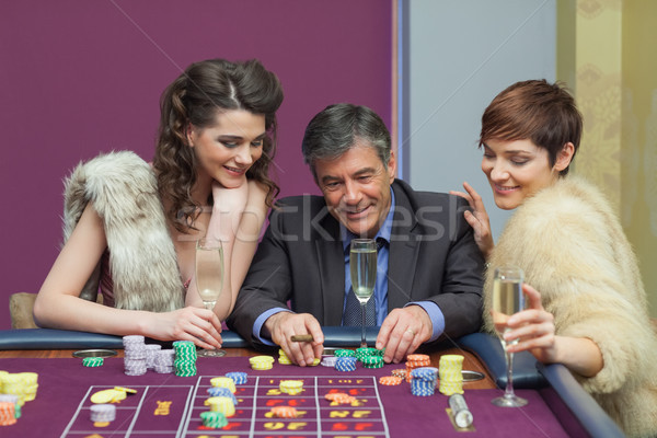
<path fill-rule="evenodd" d="M 338 103 L 326 106 L 306 128 L 301 150 L 315 175 L 315 160 L 333 160 L 358 145 L 372 147 L 388 169 L 390 132 L 377 113 L 367 106 Z"/>

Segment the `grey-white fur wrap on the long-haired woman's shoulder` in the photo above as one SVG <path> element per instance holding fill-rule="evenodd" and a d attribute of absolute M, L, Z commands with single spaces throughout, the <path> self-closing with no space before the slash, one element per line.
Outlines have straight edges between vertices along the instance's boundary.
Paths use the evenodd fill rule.
<path fill-rule="evenodd" d="M 80 163 L 65 182 L 64 241 L 89 201 L 103 220 L 117 309 L 166 312 L 184 306 L 176 254 L 150 165 L 134 152 Z M 81 298 L 97 296 L 101 263 Z"/>

